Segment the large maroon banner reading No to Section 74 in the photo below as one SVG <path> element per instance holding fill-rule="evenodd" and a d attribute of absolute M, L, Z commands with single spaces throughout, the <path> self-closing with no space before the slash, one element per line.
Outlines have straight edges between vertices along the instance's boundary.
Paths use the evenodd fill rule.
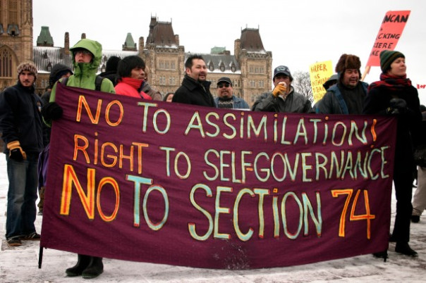
<path fill-rule="evenodd" d="M 57 91 L 43 247 L 225 269 L 387 249 L 394 118 Z"/>

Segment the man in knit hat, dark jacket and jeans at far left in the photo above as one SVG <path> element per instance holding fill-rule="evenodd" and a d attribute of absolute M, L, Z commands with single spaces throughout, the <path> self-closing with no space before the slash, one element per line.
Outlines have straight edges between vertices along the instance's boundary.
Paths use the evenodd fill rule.
<path fill-rule="evenodd" d="M 6 144 L 8 204 L 6 240 L 21 246 L 21 239 L 39 240 L 35 232 L 37 161 L 43 149 L 42 103 L 35 94 L 37 68 L 32 62 L 18 65 L 18 84 L 0 96 L 0 131 Z"/>

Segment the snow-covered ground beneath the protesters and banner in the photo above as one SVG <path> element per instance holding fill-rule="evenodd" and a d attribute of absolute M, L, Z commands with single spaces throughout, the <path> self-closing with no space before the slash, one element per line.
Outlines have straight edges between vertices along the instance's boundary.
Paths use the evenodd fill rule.
<path fill-rule="evenodd" d="M 6 243 L 6 198 L 8 179 L 6 158 L 0 153 L 0 282 L 87 282 L 82 277 L 66 277 L 65 269 L 75 264 L 77 256 L 65 251 L 44 249 L 42 268 L 38 268 L 39 242 L 23 241 L 23 246 Z M 395 199 L 392 199 L 392 223 Z M 37 232 L 42 216 L 37 215 Z M 104 273 L 93 282 L 426 282 L 426 213 L 420 223 L 412 223 L 410 246 L 419 253 L 409 258 L 395 253 L 389 245 L 389 259 L 371 255 L 343 258 L 309 265 L 257 270 L 211 270 L 173 265 L 136 263 L 104 259 Z M 291 256 L 291 255 L 288 255 Z"/>

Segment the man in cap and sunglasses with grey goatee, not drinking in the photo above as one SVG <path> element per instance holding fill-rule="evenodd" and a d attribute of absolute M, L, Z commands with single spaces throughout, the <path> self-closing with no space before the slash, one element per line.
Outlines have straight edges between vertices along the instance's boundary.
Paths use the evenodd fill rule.
<path fill-rule="evenodd" d="M 217 81 L 217 98 L 214 99 L 217 108 L 250 109 L 248 103 L 233 95 L 232 82 L 229 77 L 221 77 Z"/>

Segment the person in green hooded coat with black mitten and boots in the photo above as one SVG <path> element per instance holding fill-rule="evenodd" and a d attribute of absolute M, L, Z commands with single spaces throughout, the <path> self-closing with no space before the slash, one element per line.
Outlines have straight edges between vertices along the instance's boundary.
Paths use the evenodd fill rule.
<path fill-rule="evenodd" d="M 81 39 L 71 49 L 74 74 L 68 77 L 66 85 L 68 87 L 80 87 L 83 89 L 96 89 L 96 72 L 102 58 L 102 45 L 90 39 Z M 59 83 L 62 83 L 59 80 Z M 56 82 L 51 89 L 50 101 L 42 108 L 44 122 L 51 125 L 52 120 L 57 120 L 62 116 L 62 108 L 56 99 Z M 101 92 L 115 94 L 114 85 L 108 79 L 103 79 L 100 87 Z M 49 189 L 49 188 L 48 188 Z M 104 271 L 102 258 L 96 256 L 86 256 L 78 254 L 78 261 L 72 268 L 66 269 L 66 275 L 80 276 L 83 278 L 98 277 Z"/>

